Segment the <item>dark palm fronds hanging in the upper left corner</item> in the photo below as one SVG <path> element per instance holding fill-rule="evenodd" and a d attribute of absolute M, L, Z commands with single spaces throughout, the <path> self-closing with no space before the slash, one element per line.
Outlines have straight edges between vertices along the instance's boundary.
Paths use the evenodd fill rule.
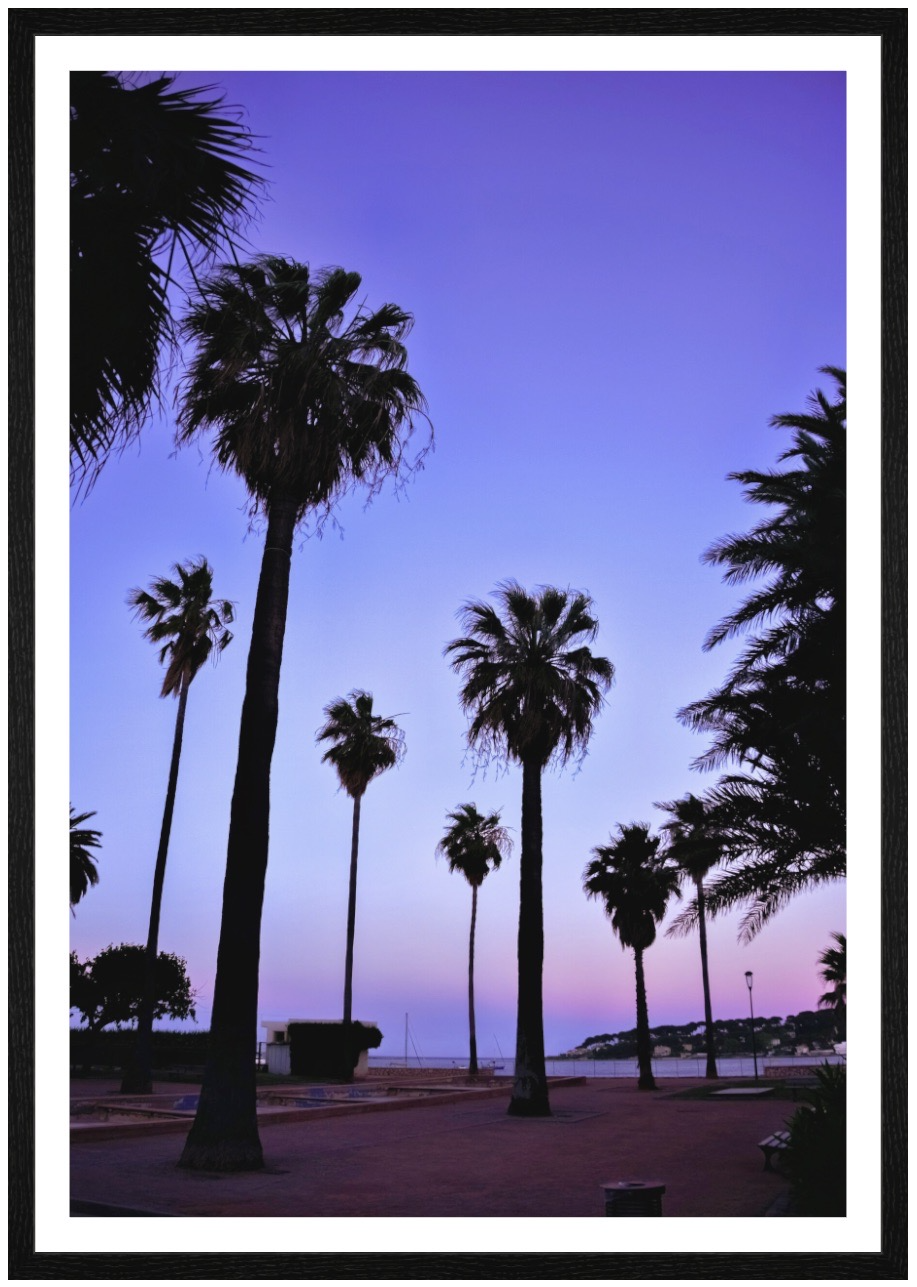
<path fill-rule="evenodd" d="M 71 73 L 71 465 L 91 484 L 157 396 L 168 287 L 232 246 L 261 179 L 213 86 Z"/>

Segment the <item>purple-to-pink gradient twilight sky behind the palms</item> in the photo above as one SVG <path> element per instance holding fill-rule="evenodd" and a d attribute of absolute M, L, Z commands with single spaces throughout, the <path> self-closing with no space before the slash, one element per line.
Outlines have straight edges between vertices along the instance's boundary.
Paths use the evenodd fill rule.
<path fill-rule="evenodd" d="M 467 1048 L 471 892 L 433 851 L 445 815 L 499 808 L 516 849 L 480 898 L 478 1050 L 514 1035 L 521 775 L 473 771 L 455 613 L 498 582 L 588 591 L 616 682 L 579 772 L 544 780 L 549 1053 L 634 1026 L 633 956 L 581 873 L 619 822 L 702 792 L 705 740 L 679 707 L 719 685 L 704 654 L 738 595 L 704 550 L 760 514 L 727 481 L 768 468 L 824 364 L 846 363 L 845 77 L 742 73 L 184 73 L 260 136 L 269 198 L 253 250 L 363 275 L 368 305 L 415 317 L 410 371 L 436 447 L 408 493 L 338 511 L 297 542 L 271 777 L 261 1019 L 336 1018 L 351 802 L 320 763 L 323 707 L 354 687 L 399 714 L 400 768 L 363 807 L 354 1012 L 422 1055 Z M 71 514 L 71 799 L 103 833 L 78 905 L 87 956 L 147 933 L 175 703 L 126 596 L 204 555 L 235 640 L 188 703 L 161 949 L 186 958 L 210 1018 L 244 667 L 262 529 L 206 448 L 149 425 Z M 841 885 L 795 901 L 749 947 L 710 929 L 714 1009 L 814 1008 Z M 647 954 L 653 1023 L 702 1014 L 697 941 Z M 259 1033 L 261 1036 L 262 1033 Z M 413 1053 L 413 1051 L 412 1051 Z"/>

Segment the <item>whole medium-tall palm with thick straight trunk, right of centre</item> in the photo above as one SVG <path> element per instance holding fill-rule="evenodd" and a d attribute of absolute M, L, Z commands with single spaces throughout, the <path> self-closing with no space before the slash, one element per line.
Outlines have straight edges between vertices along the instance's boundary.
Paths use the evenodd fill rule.
<path fill-rule="evenodd" d="M 541 775 L 552 762 L 562 766 L 585 754 L 615 669 L 586 647 L 598 632 L 588 595 L 552 586 L 529 595 L 508 580 L 495 598 L 502 614 L 485 602 L 464 605 L 459 619 L 467 633 L 445 651 L 463 678 L 469 745 L 484 762 L 496 757 L 522 766 L 518 1012 L 509 1112 L 544 1117 L 550 1106 L 541 994 Z"/>

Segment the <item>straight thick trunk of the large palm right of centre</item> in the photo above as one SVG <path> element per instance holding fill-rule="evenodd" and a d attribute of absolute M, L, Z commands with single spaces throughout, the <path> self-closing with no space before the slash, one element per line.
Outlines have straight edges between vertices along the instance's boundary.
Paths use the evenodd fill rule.
<path fill-rule="evenodd" d="M 544 1071 L 544 907 L 541 902 L 541 763 L 522 763 L 522 853 L 520 857 L 518 1003 L 516 1075 L 509 1100 L 514 1117 L 549 1117 Z"/>

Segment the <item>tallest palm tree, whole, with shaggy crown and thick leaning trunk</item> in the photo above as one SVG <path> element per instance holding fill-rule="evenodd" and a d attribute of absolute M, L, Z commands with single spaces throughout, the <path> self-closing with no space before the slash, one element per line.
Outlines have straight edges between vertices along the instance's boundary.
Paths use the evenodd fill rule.
<path fill-rule="evenodd" d="M 418 463 L 406 444 L 426 402 L 406 371 L 412 317 L 354 308 L 356 273 L 264 256 L 204 283 L 185 329 L 195 345 L 179 441 L 212 430 L 217 465 L 238 474 L 266 520 L 255 602 L 213 987 L 211 1058 L 181 1165 L 264 1166 L 257 1131 L 257 987 L 268 867 L 270 763 L 293 535 L 349 489 L 372 493 Z M 422 454 L 422 453 L 421 453 Z"/>

